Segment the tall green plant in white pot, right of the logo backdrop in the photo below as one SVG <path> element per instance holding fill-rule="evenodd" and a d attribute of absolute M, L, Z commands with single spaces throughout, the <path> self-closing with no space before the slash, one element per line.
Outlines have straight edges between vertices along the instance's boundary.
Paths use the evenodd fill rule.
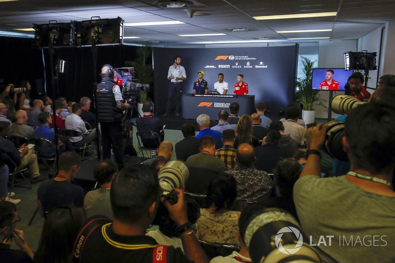
<path fill-rule="evenodd" d="M 306 124 L 313 123 L 316 118 L 315 106 L 322 106 L 324 108 L 324 99 L 319 95 L 319 90 L 312 89 L 313 69 L 315 61 L 311 61 L 307 57 L 301 57 L 303 76 L 296 79 L 296 87 L 299 89 L 296 92 L 296 99 L 302 104 L 302 118 Z"/>

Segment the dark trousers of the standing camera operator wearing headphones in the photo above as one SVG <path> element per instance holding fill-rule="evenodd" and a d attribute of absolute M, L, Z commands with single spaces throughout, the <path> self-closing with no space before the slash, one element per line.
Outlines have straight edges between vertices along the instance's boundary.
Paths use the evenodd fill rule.
<path fill-rule="evenodd" d="M 101 122 L 103 159 L 111 158 L 111 145 L 115 155 L 115 161 L 119 167 L 123 167 L 122 154 L 122 126 L 121 122 Z"/>

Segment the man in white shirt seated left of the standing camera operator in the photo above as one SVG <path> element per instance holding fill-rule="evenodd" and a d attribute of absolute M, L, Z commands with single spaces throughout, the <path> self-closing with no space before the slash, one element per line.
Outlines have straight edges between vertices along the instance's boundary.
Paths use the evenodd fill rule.
<path fill-rule="evenodd" d="M 85 122 L 81 119 L 81 106 L 76 103 L 72 107 L 73 113 L 66 117 L 66 129 L 76 130 L 83 134 L 83 137 L 71 137 L 69 140 L 72 142 L 73 146 L 79 147 L 84 144 L 90 144 L 93 142 L 96 136 L 96 128 L 92 130 L 87 130 L 85 127 Z"/>

